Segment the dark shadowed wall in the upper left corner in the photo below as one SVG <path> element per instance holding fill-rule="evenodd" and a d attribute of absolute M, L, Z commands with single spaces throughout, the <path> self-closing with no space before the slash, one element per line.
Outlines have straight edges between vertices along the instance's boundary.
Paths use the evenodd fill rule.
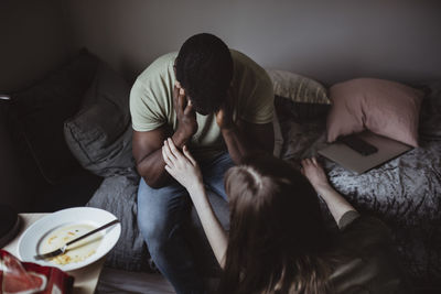
<path fill-rule="evenodd" d="M 56 68 L 72 52 L 63 1 L 0 1 L 0 92 L 14 91 Z"/>

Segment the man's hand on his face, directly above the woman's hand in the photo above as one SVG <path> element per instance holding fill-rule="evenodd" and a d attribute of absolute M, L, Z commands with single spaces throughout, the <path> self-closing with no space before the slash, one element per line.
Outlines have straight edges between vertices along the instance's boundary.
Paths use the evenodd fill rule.
<path fill-rule="evenodd" d="M 173 88 L 173 105 L 178 116 L 176 134 L 180 142 L 185 144 L 197 131 L 196 112 L 193 110 L 191 101 L 186 98 L 185 91 L 176 83 Z"/>

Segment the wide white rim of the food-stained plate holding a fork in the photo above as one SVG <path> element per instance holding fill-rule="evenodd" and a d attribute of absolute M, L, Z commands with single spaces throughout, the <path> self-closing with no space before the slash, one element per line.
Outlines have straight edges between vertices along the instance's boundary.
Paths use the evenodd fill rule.
<path fill-rule="evenodd" d="M 37 253 L 42 253 L 39 252 L 39 248 L 44 238 L 60 228 L 75 225 L 88 225 L 97 228 L 112 221 L 114 219 L 116 219 L 116 217 L 109 211 L 93 207 L 67 208 L 47 215 L 31 225 L 21 236 L 18 246 L 19 259 L 21 261 L 34 262 L 41 265 L 56 266 L 63 271 L 73 271 L 86 266 L 103 258 L 114 248 L 121 235 L 120 224 L 111 226 L 101 232 L 97 232 L 96 235 L 103 235 L 103 239 L 100 240 L 96 252 L 83 261 L 71 262 L 62 265 L 51 261 L 35 260 L 34 257 Z"/>

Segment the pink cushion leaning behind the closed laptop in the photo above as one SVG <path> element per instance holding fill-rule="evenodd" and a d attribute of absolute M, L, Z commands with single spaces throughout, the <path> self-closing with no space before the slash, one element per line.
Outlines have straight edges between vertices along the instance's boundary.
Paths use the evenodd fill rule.
<path fill-rule="evenodd" d="M 330 89 L 327 142 L 368 129 L 418 146 L 418 120 L 423 92 L 399 83 L 356 78 Z"/>

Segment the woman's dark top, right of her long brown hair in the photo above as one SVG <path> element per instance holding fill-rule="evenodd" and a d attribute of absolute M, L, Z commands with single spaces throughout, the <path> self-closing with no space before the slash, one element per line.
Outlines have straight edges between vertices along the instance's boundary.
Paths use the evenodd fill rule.
<path fill-rule="evenodd" d="M 343 215 L 338 228 L 336 255 L 343 259 L 330 277 L 335 293 L 411 293 L 383 221 L 351 210 Z"/>

